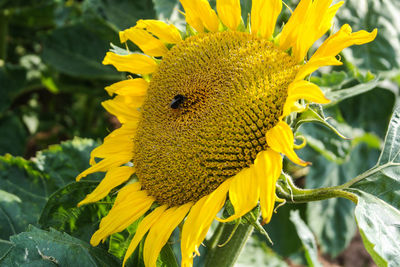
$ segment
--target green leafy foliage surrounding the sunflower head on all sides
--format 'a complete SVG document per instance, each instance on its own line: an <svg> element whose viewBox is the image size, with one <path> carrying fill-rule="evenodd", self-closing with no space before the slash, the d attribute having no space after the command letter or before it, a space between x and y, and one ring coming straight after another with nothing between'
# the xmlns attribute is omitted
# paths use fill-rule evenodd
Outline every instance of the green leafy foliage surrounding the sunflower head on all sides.
<svg viewBox="0 0 400 267"><path fill-rule="evenodd" d="M251 0L240 2L246 18ZM285 2L294 7L298 1ZM98 140L118 127L100 105L107 98L103 88L124 78L101 64L109 44L119 44L118 31L140 18L183 29L179 8L177 0L0 0L0 266L121 265L138 222L91 247L115 194L78 208L102 175L79 183L75 177L89 166ZM344 50L343 66L313 74L311 81L333 101L290 120L307 142L299 154L312 166L286 162L287 174L306 190L336 186L357 203L298 203L305 191L282 180L283 191L292 190L286 200L294 203L278 208L264 226L274 244L255 232L237 266L287 266L288 259L319 266L318 255L336 257L357 231L378 266L400 265L399 14L396 1L346 1L335 25L376 27L377 39ZM284 7L276 27L289 15ZM144 266L142 250L143 242L128 266ZM168 243L158 266L179 260L179 244Z"/></svg>

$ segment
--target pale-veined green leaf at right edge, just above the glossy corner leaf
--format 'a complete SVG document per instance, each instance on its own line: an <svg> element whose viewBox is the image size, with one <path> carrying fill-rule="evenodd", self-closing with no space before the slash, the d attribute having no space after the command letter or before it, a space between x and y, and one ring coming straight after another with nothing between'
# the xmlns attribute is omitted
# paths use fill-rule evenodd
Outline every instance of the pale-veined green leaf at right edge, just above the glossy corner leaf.
<svg viewBox="0 0 400 267"><path fill-rule="evenodd" d="M377 164L359 175L353 188L379 197L400 208L400 106L390 120L382 153Z"/></svg>

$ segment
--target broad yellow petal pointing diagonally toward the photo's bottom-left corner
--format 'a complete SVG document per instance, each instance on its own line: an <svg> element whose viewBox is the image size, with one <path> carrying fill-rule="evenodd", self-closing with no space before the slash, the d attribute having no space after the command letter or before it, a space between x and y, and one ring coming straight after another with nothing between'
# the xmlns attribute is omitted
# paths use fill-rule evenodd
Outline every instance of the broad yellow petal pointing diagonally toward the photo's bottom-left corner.
<svg viewBox="0 0 400 267"><path fill-rule="evenodd" d="M154 198L148 196L146 191L138 190L138 186L140 188L139 182L136 182L119 191L114 206L101 220L99 230L93 234L90 240L92 246L97 246L109 235L124 230L150 209Z"/></svg>

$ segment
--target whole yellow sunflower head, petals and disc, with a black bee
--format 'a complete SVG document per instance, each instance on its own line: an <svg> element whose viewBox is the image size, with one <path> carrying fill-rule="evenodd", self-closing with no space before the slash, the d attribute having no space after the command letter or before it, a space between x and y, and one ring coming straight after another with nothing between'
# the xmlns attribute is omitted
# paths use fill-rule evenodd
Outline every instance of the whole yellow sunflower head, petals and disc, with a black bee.
<svg viewBox="0 0 400 267"><path fill-rule="evenodd" d="M155 266L173 230L184 221L182 266L191 266L227 197L240 218L259 205L263 223L274 209L282 157L305 166L294 152L285 118L301 103L329 103L305 80L348 46L372 41L377 31L330 35L307 59L315 41L332 26L343 2L301 0L280 33L274 33L281 0L253 0L247 25L239 0L181 0L186 32L157 20L139 20L120 32L143 54L108 52L103 64L136 74L105 89L104 108L122 126L91 153L93 172L106 172L79 205L95 202L121 185L115 203L91 239L98 245L143 218L124 264L146 236L143 257ZM148 233L147 233L148 232Z"/></svg>

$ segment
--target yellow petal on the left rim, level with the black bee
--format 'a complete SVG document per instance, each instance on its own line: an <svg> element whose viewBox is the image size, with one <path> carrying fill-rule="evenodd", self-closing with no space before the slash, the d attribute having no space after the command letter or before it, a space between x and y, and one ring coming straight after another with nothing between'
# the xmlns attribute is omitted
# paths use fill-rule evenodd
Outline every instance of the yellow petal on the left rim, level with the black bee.
<svg viewBox="0 0 400 267"><path fill-rule="evenodd" d="M127 105L127 101L131 100L130 105ZM140 99L139 102L132 102L132 99L117 96L114 99L106 100L101 105L111 114L115 115L121 123L127 121L135 121L140 117L138 107L143 103L144 99Z"/></svg>

